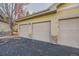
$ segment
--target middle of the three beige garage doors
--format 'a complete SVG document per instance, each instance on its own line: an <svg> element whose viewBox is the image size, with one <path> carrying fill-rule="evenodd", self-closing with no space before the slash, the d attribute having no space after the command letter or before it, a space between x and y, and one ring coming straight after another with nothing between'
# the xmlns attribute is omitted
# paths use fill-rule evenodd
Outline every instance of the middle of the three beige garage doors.
<svg viewBox="0 0 79 59"><path fill-rule="evenodd" d="M33 39L50 42L50 22L33 24Z"/></svg>

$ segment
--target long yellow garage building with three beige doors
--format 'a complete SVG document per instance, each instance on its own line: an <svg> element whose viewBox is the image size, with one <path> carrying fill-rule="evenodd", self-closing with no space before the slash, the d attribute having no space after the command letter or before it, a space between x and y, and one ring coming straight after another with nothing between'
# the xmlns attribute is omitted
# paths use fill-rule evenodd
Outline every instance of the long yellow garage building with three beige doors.
<svg viewBox="0 0 79 59"><path fill-rule="evenodd" d="M19 36L79 48L79 4L54 4L16 21Z"/></svg>

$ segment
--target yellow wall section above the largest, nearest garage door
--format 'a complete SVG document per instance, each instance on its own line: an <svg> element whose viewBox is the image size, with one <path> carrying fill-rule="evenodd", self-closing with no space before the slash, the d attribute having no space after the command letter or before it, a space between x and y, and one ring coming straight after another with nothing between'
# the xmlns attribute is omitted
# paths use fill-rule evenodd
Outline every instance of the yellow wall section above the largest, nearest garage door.
<svg viewBox="0 0 79 59"><path fill-rule="evenodd" d="M66 6L67 5L67 6ZM79 4L64 4L66 7L60 7L57 9L57 14L59 15L59 19L63 18L71 18L79 16Z"/></svg>

